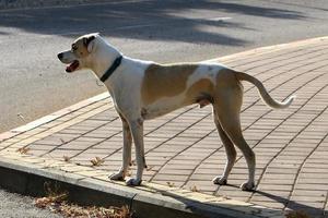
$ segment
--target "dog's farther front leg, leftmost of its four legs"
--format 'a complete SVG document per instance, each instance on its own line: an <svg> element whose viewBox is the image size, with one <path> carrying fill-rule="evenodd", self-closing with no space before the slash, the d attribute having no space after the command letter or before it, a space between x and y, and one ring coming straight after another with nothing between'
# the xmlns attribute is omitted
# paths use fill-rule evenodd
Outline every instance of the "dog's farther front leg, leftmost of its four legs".
<svg viewBox="0 0 328 218"><path fill-rule="evenodd" d="M131 162L132 136L127 120L122 116L120 116L120 119L122 122L122 135L124 135L122 166L117 173L109 175L109 179L122 181L127 175L129 165Z"/></svg>

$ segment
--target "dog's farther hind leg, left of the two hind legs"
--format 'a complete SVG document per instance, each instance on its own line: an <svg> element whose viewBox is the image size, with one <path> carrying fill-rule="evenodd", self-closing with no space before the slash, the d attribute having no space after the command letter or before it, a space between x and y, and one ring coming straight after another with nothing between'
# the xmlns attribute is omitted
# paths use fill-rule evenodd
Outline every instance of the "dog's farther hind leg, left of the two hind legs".
<svg viewBox="0 0 328 218"><path fill-rule="evenodd" d="M213 114L214 116L214 122L215 122L219 135L221 137L221 141L224 145L225 153L226 153L226 164L225 164L225 167L224 167L224 171L223 171L221 177L219 175L219 177L215 177L213 179L213 183L224 185L224 184L226 184L227 177L229 177L229 174L230 174L230 172L231 172L231 170L232 170L232 168L235 164L237 153L236 153L234 144L231 142L231 140L229 138L226 133L221 128L221 124L220 124L220 121L219 121L219 118L218 118L218 114L216 114L215 110L213 111L213 113L214 113Z"/></svg>

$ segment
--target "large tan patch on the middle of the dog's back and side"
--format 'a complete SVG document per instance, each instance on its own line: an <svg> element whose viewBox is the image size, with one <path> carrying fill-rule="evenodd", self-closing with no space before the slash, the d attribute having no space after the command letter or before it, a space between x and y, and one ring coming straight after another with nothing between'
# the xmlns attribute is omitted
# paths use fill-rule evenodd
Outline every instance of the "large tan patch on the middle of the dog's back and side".
<svg viewBox="0 0 328 218"><path fill-rule="evenodd" d="M141 96L145 105L159 98L176 96L187 88L187 81L198 64L151 64L144 72Z"/></svg>

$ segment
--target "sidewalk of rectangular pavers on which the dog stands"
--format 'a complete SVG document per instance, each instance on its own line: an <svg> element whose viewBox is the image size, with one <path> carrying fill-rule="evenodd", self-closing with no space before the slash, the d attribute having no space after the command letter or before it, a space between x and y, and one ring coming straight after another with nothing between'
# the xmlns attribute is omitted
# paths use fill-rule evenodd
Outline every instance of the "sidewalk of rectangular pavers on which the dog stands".
<svg viewBox="0 0 328 218"><path fill-rule="evenodd" d="M145 122L149 169L143 179L202 196L232 198L236 204L246 202L272 211L304 210L309 217L327 218L328 37L218 60L262 81L276 99L297 95L290 108L271 110L254 86L244 84L242 124L257 157L256 192L238 187L247 179L239 150L229 185L212 184L212 178L223 170L225 152L211 107L187 107ZM107 94L0 134L0 142L2 157L62 160L70 167L61 170L103 180L121 164L121 123ZM104 162L97 162L96 157ZM92 167L91 160L99 166ZM134 170L133 166L131 172Z"/></svg>

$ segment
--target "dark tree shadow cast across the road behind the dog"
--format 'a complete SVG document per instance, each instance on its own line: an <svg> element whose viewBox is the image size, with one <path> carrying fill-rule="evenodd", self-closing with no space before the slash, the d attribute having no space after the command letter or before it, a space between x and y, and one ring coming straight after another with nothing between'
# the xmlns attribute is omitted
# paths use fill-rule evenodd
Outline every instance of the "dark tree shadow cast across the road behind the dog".
<svg viewBox="0 0 328 218"><path fill-rule="evenodd" d="M199 19L199 10L202 19ZM192 12L192 17L184 14ZM194 13L195 11L195 13ZM229 13L282 20L305 19L301 12L241 3L199 1L108 2L97 5L75 5L55 9L1 11L0 26L15 27L30 33L77 36L101 32L110 37L141 40L174 40L229 46L247 44L243 38L224 34L226 29L256 31L226 17ZM208 14L208 19L203 19ZM219 28L211 31L209 27ZM175 34L172 34L174 32ZM0 32L0 35L7 34Z"/></svg>

